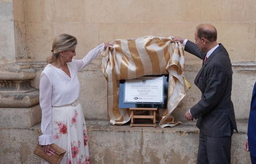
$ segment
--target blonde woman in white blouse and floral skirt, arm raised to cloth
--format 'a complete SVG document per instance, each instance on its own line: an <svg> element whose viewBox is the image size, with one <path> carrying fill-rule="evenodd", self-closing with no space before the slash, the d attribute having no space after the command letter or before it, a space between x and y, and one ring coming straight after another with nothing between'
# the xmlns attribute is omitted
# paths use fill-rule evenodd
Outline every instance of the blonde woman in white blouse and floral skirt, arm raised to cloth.
<svg viewBox="0 0 256 164"><path fill-rule="evenodd" d="M88 65L108 46L102 43L82 60L73 60L77 39L68 34L56 36L52 44L52 56L42 71L39 84L39 101L42 109L39 144L49 152L52 143L67 152L61 163L90 163L86 124L79 103L77 73ZM42 159L41 163L48 163Z"/></svg>

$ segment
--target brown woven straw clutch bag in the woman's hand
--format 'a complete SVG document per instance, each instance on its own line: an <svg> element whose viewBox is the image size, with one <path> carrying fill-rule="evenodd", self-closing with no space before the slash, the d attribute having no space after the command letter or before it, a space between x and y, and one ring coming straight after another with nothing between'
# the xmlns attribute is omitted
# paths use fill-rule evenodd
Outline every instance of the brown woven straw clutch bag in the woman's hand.
<svg viewBox="0 0 256 164"><path fill-rule="evenodd" d="M50 146L50 151L44 153L44 149L41 145L37 144L35 146L34 154L41 157L42 159L48 161L51 164L60 164L63 156L65 155L65 150L56 144Z"/></svg>

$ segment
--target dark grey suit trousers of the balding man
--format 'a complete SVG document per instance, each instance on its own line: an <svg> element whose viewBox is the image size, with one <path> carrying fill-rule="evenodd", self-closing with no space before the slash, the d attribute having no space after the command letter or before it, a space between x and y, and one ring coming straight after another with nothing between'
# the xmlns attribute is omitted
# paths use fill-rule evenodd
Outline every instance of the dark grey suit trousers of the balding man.
<svg viewBox="0 0 256 164"><path fill-rule="evenodd" d="M200 130L197 164L230 164L231 137L210 137Z"/></svg>

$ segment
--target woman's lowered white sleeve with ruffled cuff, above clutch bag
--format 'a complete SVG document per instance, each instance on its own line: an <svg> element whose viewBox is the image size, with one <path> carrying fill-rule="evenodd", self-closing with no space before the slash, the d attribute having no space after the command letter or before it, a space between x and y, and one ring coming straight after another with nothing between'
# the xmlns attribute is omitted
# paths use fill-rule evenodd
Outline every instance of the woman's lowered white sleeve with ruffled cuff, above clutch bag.
<svg viewBox="0 0 256 164"><path fill-rule="evenodd" d="M42 72L39 83L39 103L42 109L41 131L43 135L39 136L40 145L52 144L52 83L48 76Z"/></svg>

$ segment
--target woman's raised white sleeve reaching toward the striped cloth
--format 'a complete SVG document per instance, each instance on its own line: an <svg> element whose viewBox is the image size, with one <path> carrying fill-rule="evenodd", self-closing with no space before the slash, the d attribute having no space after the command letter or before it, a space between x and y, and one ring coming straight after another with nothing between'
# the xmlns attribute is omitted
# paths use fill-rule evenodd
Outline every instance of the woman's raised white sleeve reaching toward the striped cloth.
<svg viewBox="0 0 256 164"><path fill-rule="evenodd" d="M104 43L93 48L90 52L88 52L87 55L84 56L84 58L82 60L73 59L73 61L76 64L76 67L78 68L78 71L82 70L83 67L85 67L89 63L91 63L91 61L93 61L93 59L95 59L100 54L100 52L103 50L103 48L104 48Z"/></svg>

